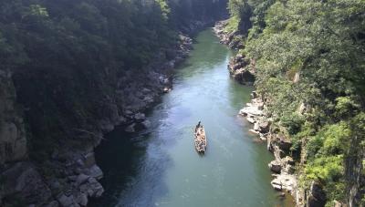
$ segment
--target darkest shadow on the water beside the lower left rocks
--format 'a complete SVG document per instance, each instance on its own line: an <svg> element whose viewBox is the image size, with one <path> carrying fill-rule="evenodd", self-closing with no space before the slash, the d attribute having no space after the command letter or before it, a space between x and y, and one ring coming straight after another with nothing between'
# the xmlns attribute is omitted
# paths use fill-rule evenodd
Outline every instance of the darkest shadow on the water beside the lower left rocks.
<svg viewBox="0 0 365 207"><path fill-rule="evenodd" d="M96 149L96 159L104 172L101 180L105 192L101 198L91 201L89 206L113 206L120 200L120 191L128 188L138 174L146 153L147 142L136 139L121 128L107 134Z"/></svg>

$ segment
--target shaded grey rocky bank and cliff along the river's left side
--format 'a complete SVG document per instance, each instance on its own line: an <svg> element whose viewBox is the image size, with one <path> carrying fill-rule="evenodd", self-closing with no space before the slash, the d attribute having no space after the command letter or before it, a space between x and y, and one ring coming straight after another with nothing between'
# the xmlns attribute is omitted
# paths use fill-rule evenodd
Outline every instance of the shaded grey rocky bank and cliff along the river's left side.
<svg viewBox="0 0 365 207"><path fill-rule="evenodd" d="M47 74L12 74L0 70L2 206L86 206L90 197L99 197L104 191L98 181L103 173L95 162L94 147L103 139L103 133L116 125L125 125L126 130L148 127L143 110L169 91L171 69L191 49L191 38L182 35L179 38L180 44L162 49L148 66L115 78L110 90L93 88L92 94L99 101L90 98L89 106L75 101L84 104L79 110L68 108L68 103L62 100L68 94L59 88L61 83L50 82L55 81L50 74L47 77ZM32 85L35 81L42 83ZM96 84L107 81L110 76ZM91 109L85 109L88 107ZM50 123L42 122L45 118L39 116L42 113L52 116L49 110L55 116L47 117ZM93 114L89 117L85 112ZM39 136L36 132L45 127L40 124L53 126L60 134L47 139ZM60 136L63 139L57 140Z"/></svg>

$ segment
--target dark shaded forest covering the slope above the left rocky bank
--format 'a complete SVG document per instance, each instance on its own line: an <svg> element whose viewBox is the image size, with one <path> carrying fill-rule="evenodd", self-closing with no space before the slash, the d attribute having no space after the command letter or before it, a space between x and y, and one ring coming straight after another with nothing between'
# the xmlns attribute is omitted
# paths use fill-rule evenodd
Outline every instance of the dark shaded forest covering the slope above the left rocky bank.
<svg viewBox="0 0 365 207"><path fill-rule="evenodd" d="M38 157L47 158L50 145L64 138L79 137L74 129L93 131L109 113L106 105L115 101L117 88L128 87L133 74L142 78L144 67L163 58L161 52L171 58L179 30L191 32L193 21L213 21L222 15L222 4L0 1L0 67L13 74L31 146L46 149Z"/></svg>

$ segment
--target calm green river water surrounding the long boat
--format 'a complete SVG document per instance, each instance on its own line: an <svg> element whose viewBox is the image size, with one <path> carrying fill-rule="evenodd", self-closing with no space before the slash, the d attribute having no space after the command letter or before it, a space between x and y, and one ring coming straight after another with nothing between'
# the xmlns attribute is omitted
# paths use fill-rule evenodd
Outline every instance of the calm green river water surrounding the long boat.
<svg viewBox="0 0 365 207"><path fill-rule="evenodd" d="M293 206L270 186L266 143L236 117L253 88L229 78L232 51L212 29L193 47L172 92L151 109L151 128L131 135L116 129L97 149L106 191L92 206ZM199 120L208 139L203 156L193 148Z"/></svg>

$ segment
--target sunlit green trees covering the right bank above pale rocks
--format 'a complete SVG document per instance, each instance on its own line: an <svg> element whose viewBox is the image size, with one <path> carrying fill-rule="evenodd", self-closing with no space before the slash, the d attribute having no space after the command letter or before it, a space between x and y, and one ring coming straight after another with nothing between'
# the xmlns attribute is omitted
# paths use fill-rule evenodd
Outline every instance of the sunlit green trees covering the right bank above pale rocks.
<svg viewBox="0 0 365 207"><path fill-rule="evenodd" d="M267 111L297 159L304 155L302 187L318 181L328 206L364 205L364 2L230 0L229 8Z"/></svg>

